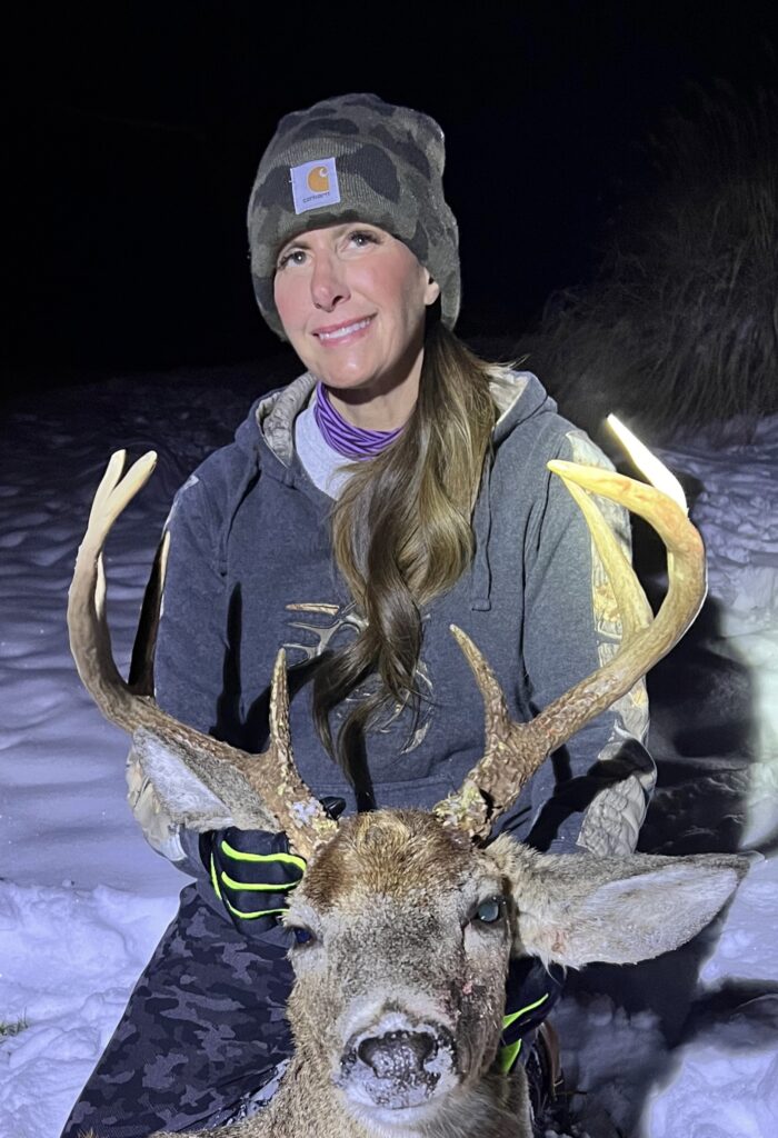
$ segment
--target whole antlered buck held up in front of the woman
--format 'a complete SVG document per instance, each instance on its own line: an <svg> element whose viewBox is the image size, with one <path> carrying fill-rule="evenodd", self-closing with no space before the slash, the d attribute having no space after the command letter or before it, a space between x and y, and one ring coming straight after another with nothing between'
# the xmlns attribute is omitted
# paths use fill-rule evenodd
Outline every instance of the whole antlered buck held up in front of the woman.
<svg viewBox="0 0 778 1138"><path fill-rule="evenodd" d="M155 457L144 455L122 478L124 453L114 455L97 492L68 605L78 671L106 717L132 733L146 773L181 822L200 831L231 822L284 830L307 859L284 922L293 933L295 1055L260 1114L207 1133L531 1138L523 1069L506 1077L496 1062L511 956L572 968L659 956L704 927L747 867L746 858L726 855L601 858L541 855L506 836L488 844L494 819L546 756L628 692L692 622L705 592L700 535L682 504L654 486L553 463L609 571L623 619L620 652L531 723L516 724L488 662L453 628L483 696L482 759L430 813L379 810L336 823L295 767L283 653L260 756L200 735L154 702L164 544L131 679L119 676L101 551ZM655 618L587 490L621 502L662 537L669 588Z"/></svg>

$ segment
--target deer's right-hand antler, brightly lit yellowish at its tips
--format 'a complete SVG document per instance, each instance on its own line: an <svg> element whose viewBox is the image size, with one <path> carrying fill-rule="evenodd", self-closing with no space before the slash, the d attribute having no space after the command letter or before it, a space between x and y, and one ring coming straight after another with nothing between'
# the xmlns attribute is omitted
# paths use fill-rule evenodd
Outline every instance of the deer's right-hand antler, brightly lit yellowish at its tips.
<svg viewBox="0 0 778 1138"><path fill-rule="evenodd" d="M612 418L612 417L611 417ZM614 426L614 429L616 427ZM662 463L618 424L618 432L636 463L653 483L676 489L669 494L597 467L549 462L580 506L603 561L622 616L622 645L606 665L554 700L530 723L511 720L499 684L473 642L460 628L452 632L462 648L483 696L483 757L455 794L439 802L434 815L446 826L486 839L494 820L515 802L524 783L545 758L584 724L609 708L661 660L689 627L705 596L705 552L700 534L686 516L678 483ZM637 442L637 440L636 440ZM594 501L590 490L621 503L657 531L668 550L669 587L652 618L648 602L631 566Z"/></svg>

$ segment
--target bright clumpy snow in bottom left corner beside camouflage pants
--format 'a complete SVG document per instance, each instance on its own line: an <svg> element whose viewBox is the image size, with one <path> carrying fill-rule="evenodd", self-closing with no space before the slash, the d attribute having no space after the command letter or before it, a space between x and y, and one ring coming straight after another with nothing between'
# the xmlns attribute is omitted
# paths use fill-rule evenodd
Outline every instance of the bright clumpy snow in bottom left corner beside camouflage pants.
<svg viewBox="0 0 778 1138"><path fill-rule="evenodd" d="M108 1042L174 897L0 885L0 1133L58 1135Z"/></svg>

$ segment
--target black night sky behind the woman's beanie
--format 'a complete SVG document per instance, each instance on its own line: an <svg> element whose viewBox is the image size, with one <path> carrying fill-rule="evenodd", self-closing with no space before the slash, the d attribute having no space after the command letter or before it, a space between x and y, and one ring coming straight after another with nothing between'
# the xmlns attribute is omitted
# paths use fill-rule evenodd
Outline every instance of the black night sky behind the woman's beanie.
<svg viewBox="0 0 778 1138"><path fill-rule="evenodd" d="M776 82L776 8L28 5L6 28L9 376L275 352L248 271L254 173L282 114L359 90L442 125L460 331L519 335L593 272L663 109L693 83Z"/></svg>

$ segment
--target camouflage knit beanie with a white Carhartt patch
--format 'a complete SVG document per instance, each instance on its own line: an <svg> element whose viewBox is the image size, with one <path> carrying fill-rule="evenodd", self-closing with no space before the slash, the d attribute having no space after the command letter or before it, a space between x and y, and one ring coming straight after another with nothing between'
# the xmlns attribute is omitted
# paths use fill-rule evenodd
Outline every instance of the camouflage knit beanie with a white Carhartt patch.
<svg viewBox="0 0 778 1138"><path fill-rule="evenodd" d="M441 316L460 311L458 236L442 192L442 131L375 94L324 99L284 115L265 150L248 209L254 291L279 336L278 254L297 233L363 221L399 238L440 286Z"/></svg>

